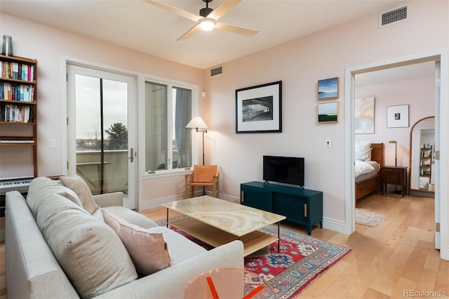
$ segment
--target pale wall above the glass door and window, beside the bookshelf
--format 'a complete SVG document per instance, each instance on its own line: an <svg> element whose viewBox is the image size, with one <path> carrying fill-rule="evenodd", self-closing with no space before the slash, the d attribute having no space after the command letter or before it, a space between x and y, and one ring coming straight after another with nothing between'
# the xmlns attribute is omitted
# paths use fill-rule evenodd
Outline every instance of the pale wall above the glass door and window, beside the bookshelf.
<svg viewBox="0 0 449 299"><path fill-rule="evenodd" d="M185 81L202 88L201 69L0 13L0 36L3 34L13 37L14 55L37 60L39 176L62 175L65 166L62 162L62 134L65 131L62 57ZM138 98L142 101L143 95ZM55 149L48 147L50 139L56 140Z"/></svg>

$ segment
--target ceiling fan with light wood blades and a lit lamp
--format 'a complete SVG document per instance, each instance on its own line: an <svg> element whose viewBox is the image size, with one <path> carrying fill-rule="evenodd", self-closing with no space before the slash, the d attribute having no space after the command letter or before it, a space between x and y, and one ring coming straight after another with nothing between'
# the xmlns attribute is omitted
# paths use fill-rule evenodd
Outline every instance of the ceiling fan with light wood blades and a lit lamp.
<svg viewBox="0 0 449 299"><path fill-rule="evenodd" d="M196 22L196 25L189 29L185 34L180 36L177 41L184 41L194 34L200 32L201 30L212 30L213 28L222 29L228 32L241 34L243 36L253 37L257 34L256 30L247 29L243 27L238 27L234 25L225 24L222 22L217 22L223 15L225 15L228 11L230 11L234 6L239 4L242 0L223 0L221 4L219 4L215 9L209 8L209 3L213 0L203 0L206 2L206 7L201 8L199 11L199 15L195 15L194 13L190 13L188 11L183 11L180 8L175 8L173 6L168 6L166 4L161 4L161 2L154 0L143 0L148 4L152 4L159 8L163 8L166 11L170 11L171 13L175 13L180 15L182 18L186 18Z"/></svg>

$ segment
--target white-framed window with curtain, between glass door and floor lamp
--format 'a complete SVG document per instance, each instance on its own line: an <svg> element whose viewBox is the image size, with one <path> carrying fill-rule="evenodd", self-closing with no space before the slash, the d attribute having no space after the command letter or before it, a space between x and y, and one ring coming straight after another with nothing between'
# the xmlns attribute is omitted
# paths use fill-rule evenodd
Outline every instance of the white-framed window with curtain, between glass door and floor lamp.
<svg viewBox="0 0 449 299"><path fill-rule="evenodd" d="M192 166L192 88L145 82L145 171Z"/></svg>

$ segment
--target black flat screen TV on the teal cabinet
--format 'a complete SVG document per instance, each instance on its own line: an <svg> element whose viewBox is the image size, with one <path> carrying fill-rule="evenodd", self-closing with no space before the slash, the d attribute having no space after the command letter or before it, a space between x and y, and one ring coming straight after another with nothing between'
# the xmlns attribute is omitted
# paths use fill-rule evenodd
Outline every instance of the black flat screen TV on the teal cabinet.
<svg viewBox="0 0 449 299"><path fill-rule="evenodd" d="M298 157L263 157L263 180L284 184L304 186L304 158Z"/></svg>

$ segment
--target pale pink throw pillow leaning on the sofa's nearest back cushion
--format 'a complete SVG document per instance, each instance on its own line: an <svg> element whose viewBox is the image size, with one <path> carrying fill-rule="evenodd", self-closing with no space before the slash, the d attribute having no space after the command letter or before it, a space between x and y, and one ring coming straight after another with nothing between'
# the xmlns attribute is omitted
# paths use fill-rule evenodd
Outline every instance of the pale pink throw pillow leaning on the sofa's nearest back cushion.
<svg viewBox="0 0 449 299"><path fill-rule="evenodd" d="M163 234L147 232L102 209L103 219L119 235L140 274L148 275L173 264Z"/></svg>

